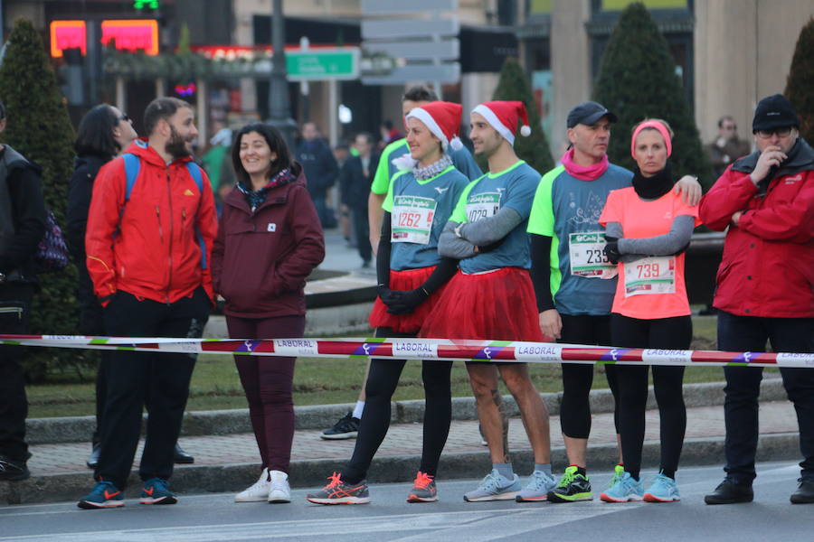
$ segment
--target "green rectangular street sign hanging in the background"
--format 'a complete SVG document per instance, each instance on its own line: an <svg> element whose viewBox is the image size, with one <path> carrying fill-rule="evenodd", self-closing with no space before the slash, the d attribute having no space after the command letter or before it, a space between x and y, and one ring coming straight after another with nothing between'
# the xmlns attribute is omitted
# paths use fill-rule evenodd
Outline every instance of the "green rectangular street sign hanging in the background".
<svg viewBox="0 0 814 542"><path fill-rule="evenodd" d="M357 79L359 48L336 47L286 51L286 70L291 81Z"/></svg>

